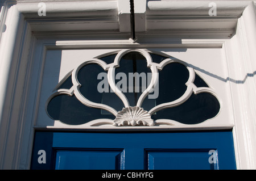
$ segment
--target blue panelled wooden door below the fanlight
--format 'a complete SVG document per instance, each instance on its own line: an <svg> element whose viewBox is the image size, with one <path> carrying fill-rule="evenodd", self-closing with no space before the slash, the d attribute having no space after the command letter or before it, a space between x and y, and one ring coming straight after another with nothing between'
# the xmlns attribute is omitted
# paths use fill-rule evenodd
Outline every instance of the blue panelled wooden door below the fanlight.
<svg viewBox="0 0 256 181"><path fill-rule="evenodd" d="M34 140L31 169L236 169L232 131L36 132Z"/></svg>

